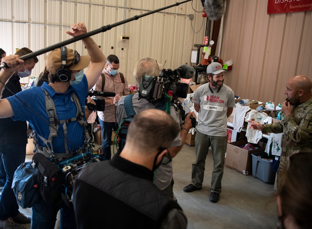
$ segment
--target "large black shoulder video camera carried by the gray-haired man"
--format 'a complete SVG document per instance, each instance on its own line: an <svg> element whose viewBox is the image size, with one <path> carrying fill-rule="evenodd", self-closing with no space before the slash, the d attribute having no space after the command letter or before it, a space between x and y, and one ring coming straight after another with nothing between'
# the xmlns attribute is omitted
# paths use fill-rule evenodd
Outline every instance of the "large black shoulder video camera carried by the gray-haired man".
<svg viewBox="0 0 312 229"><path fill-rule="evenodd" d="M171 103L176 103L177 98L186 98L188 84L179 83L180 78L191 79L194 76L194 68L183 64L179 68L161 69L159 76L142 76L139 88L139 98L144 98L150 103L157 103L165 98L165 94L172 97Z"/></svg>

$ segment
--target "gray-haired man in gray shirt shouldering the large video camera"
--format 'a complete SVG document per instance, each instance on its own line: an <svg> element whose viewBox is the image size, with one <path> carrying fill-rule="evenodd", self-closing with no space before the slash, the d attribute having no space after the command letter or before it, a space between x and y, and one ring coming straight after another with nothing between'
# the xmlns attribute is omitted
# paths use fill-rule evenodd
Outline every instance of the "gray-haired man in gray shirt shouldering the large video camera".
<svg viewBox="0 0 312 229"><path fill-rule="evenodd" d="M142 80L142 76L150 75L150 76L158 76L160 73L159 65L157 64L156 60L148 57L142 60L139 60L134 68L134 82L136 83L137 87L139 88L140 82ZM126 117L126 111L124 108L124 98L120 98L118 102L118 107L116 110L117 122L120 125L123 118ZM154 108L155 105L149 103L146 99L139 99L139 93L135 93L132 97L132 104L135 113L139 113L140 111ZM175 138L171 147L168 149L170 152L170 156L173 158L177 153L181 150L182 146L184 145L186 135L188 131L192 128L192 122L189 116L194 112L189 112L187 117L185 118L184 127L182 128L180 135ZM177 123L180 123L180 118L178 113L175 111L174 107L170 107L170 115L174 118ZM143 141L143 139L142 139ZM154 184L160 189L163 190L164 193L169 195L170 197L174 198L173 195L173 168L172 163L168 163L166 165L160 165L154 179Z"/></svg>

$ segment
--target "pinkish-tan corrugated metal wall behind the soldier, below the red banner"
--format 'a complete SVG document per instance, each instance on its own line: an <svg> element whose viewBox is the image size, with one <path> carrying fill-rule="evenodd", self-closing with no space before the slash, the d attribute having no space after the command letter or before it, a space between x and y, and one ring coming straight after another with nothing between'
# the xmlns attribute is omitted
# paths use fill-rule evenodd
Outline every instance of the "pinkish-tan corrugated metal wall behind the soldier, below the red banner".
<svg viewBox="0 0 312 229"><path fill-rule="evenodd" d="M221 58L225 83L241 98L285 101L285 83L312 79L312 11L267 14L267 0L227 0Z"/></svg>

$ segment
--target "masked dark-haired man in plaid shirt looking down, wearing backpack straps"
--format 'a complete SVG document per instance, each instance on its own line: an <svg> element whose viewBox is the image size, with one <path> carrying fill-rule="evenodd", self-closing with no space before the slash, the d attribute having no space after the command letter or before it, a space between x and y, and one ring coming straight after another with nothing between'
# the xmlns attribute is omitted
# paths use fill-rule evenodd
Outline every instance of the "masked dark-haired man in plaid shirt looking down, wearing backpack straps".
<svg viewBox="0 0 312 229"><path fill-rule="evenodd" d="M109 55L106 59L106 68L95 84L95 90L101 92L114 92L115 97L105 97L105 111L98 111L100 126L102 128L102 148L105 159L111 159L110 146L112 145L112 130L117 131L115 105L120 96L129 95L128 81L119 73L119 59L116 55Z"/></svg>

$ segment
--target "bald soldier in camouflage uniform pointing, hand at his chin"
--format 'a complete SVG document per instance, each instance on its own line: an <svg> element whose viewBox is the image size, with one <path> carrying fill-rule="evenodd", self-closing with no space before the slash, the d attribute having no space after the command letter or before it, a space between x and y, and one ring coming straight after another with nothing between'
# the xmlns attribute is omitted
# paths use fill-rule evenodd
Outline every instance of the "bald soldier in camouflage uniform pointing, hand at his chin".
<svg viewBox="0 0 312 229"><path fill-rule="evenodd" d="M281 171L287 165L287 158L299 150L312 152L312 82L305 75L294 76L286 83L284 94L287 95L283 103L281 122L261 125L248 121L252 129L263 133L283 133L280 167L277 172L277 188Z"/></svg>

